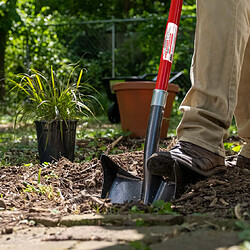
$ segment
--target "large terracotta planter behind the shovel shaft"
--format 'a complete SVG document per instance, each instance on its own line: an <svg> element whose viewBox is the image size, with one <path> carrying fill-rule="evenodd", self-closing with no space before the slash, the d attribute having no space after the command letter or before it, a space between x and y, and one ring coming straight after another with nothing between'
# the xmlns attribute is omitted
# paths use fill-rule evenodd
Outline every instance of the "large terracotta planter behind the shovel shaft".
<svg viewBox="0 0 250 250"><path fill-rule="evenodd" d="M118 100L122 130L130 131L132 138L146 136L154 88L155 82L151 81L120 82L112 86ZM173 101L178 92L179 87L177 85L169 84L161 138L167 137Z"/></svg>

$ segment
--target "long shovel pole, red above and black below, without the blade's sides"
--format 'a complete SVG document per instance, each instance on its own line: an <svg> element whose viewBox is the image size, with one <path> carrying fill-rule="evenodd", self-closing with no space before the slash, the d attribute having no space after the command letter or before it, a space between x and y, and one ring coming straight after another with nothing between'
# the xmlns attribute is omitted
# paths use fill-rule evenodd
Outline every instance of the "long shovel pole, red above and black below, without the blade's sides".
<svg viewBox="0 0 250 250"><path fill-rule="evenodd" d="M157 76L156 87L153 92L151 102L144 149L144 179L142 199L145 204L152 203L157 191L159 191L158 189L163 186L161 185L163 182L163 178L161 176L155 176L149 173L147 169L147 160L153 153L155 153L159 149L160 130L166 105L167 87L174 56L182 4L183 0L171 1L161 54L160 67Z"/></svg>

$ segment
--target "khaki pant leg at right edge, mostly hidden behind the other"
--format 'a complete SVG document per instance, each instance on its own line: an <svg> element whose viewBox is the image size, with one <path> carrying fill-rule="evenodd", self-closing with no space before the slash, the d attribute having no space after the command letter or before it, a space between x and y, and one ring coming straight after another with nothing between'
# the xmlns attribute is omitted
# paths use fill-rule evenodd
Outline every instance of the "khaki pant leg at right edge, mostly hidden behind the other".
<svg viewBox="0 0 250 250"><path fill-rule="evenodd" d="M250 158L250 39L242 67L235 118L238 134L247 143L240 154Z"/></svg>

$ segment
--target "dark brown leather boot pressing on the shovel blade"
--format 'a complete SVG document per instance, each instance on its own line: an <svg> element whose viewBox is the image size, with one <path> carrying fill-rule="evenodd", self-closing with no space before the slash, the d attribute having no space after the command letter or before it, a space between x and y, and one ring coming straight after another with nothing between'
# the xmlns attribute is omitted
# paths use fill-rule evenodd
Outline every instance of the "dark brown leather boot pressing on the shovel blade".
<svg viewBox="0 0 250 250"><path fill-rule="evenodd" d="M226 170L224 157L184 141L179 141L169 152L153 154L147 161L148 170L153 175L170 176L175 160L183 170L205 177Z"/></svg>

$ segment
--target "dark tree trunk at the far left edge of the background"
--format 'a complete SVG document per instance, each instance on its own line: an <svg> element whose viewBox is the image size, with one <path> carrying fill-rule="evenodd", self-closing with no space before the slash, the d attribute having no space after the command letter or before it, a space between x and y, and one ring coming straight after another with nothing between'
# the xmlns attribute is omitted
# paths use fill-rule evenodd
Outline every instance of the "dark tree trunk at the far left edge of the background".
<svg viewBox="0 0 250 250"><path fill-rule="evenodd" d="M6 48L6 37L6 31L0 29L0 101L3 101L5 95L4 57Z"/></svg>

